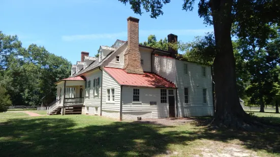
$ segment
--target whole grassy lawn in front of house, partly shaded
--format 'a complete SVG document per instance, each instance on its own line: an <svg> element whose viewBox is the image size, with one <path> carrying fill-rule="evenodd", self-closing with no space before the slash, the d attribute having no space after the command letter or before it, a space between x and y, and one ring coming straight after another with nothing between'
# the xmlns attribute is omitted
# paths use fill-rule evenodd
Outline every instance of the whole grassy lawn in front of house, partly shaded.
<svg viewBox="0 0 280 157"><path fill-rule="evenodd" d="M0 156L280 156L280 134L212 131L199 119L177 126L100 116L0 119Z"/></svg>

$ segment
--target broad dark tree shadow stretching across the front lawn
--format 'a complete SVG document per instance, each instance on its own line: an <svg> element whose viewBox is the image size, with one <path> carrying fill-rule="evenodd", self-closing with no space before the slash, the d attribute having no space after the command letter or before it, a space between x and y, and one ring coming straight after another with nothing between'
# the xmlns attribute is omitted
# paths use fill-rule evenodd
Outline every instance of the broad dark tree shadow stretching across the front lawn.
<svg viewBox="0 0 280 157"><path fill-rule="evenodd" d="M280 151L280 135L269 129L247 133L211 131L195 126L197 123L193 131L176 128L183 125L112 122L82 127L78 123L83 121L44 117L8 120L0 124L0 156L153 156L169 153L169 144L185 146L197 139L239 139L250 149Z"/></svg>

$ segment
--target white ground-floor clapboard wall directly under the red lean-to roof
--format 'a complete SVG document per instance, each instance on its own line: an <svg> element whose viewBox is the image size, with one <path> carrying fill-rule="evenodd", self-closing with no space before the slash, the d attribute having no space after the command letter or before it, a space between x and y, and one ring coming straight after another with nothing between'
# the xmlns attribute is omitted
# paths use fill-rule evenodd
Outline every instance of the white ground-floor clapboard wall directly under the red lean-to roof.
<svg viewBox="0 0 280 157"><path fill-rule="evenodd" d="M133 89L140 90L140 101L133 102ZM174 94L176 93L175 89ZM150 106L150 101L157 101L157 106ZM176 97L175 97L176 104ZM175 111L176 112L176 111ZM165 118L169 117L168 89L167 103L161 103L160 88L122 87L122 119L137 120L137 117Z"/></svg>

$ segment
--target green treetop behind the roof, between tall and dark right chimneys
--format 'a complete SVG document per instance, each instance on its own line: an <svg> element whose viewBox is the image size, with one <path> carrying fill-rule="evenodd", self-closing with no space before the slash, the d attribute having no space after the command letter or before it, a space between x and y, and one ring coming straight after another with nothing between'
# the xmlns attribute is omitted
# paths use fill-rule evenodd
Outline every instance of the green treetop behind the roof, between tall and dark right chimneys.
<svg viewBox="0 0 280 157"><path fill-rule="evenodd" d="M155 37L155 35L149 35L147 42L145 41L139 44L154 49L161 49L161 50L168 51L168 42L166 37L164 38L164 40L161 39L160 41L157 41L157 37Z"/></svg>

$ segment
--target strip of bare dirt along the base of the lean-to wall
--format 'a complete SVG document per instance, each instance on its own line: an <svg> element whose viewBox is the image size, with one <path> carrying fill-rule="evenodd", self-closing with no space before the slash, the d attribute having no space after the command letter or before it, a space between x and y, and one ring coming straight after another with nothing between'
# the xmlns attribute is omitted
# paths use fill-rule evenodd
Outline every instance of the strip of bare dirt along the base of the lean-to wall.
<svg viewBox="0 0 280 157"><path fill-rule="evenodd" d="M143 119L141 121L135 121L134 123L176 126L176 125L183 125L185 123L190 123L190 122L194 122L194 120L186 117L178 117L178 118L176 117L176 118L167 118L167 119Z"/></svg>

